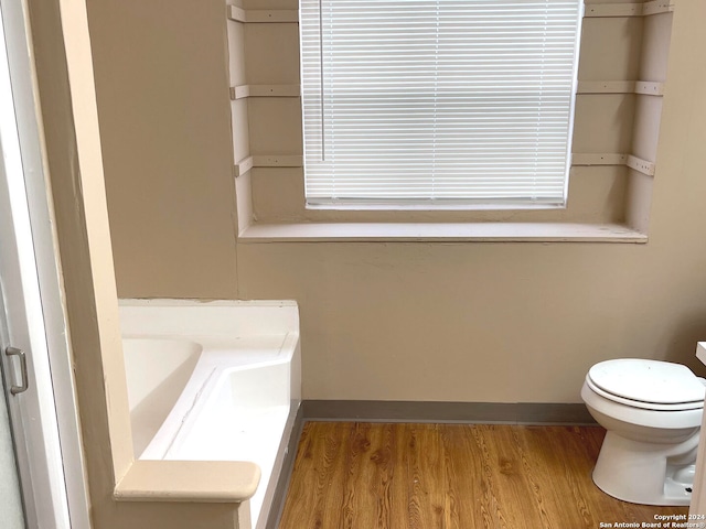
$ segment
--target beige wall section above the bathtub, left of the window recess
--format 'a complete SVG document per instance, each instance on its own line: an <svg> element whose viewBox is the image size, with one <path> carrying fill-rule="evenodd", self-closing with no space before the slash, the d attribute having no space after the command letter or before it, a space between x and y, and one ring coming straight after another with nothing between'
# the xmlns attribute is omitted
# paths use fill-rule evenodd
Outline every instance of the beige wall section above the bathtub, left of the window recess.
<svg viewBox="0 0 706 529"><path fill-rule="evenodd" d="M121 293L234 298L224 1L86 3Z"/></svg>

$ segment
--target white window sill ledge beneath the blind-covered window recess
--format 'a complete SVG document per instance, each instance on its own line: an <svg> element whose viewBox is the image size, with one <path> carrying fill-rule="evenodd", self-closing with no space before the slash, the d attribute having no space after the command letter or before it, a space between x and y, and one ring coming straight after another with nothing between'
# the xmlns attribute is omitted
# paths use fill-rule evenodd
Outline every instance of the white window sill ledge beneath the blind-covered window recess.
<svg viewBox="0 0 706 529"><path fill-rule="evenodd" d="M567 223L302 223L254 224L239 235L257 242L630 242L648 236L619 224Z"/></svg>

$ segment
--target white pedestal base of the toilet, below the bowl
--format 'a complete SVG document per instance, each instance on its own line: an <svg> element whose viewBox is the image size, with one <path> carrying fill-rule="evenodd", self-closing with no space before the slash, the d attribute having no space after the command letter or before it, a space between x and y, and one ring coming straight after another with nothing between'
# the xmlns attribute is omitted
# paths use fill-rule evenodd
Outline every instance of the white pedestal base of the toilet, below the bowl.
<svg viewBox="0 0 706 529"><path fill-rule="evenodd" d="M653 444L606 433L593 483L606 494L633 504L689 505L698 431L677 445Z"/></svg>

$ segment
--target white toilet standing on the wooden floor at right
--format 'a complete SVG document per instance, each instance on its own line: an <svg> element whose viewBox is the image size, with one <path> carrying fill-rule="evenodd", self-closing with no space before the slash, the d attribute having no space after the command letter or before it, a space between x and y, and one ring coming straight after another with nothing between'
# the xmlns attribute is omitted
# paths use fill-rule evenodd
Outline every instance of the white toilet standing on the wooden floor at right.
<svg viewBox="0 0 706 529"><path fill-rule="evenodd" d="M633 504L688 505L705 382L668 361L621 358L591 367L581 398L607 430L593 483Z"/></svg>

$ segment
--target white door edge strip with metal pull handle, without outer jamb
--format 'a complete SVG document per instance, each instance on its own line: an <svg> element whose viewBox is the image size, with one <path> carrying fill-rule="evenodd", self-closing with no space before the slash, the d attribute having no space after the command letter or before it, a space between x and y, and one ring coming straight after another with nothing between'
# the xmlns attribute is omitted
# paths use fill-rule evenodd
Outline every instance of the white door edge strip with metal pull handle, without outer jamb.
<svg viewBox="0 0 706 529"><path fill-rule="evenodd" d="M15 388L6 395L28 527L68 528L60 446L53 442L58 439L56 409L3 30L0 24L0 320L4 327L0 328L0 356L4 388ZM10 356L10 352L18 354ZM50 380L49 387L38 379Z"/></svg>

